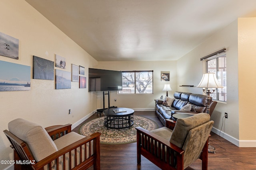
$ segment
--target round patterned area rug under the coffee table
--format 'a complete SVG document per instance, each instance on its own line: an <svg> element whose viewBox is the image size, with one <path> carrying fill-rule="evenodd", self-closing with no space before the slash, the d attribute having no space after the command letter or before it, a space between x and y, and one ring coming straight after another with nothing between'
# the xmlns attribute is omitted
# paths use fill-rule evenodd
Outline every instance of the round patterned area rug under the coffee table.
<svg viewBox="0 0 256 170"><path fill-rule="evenodd" d="M151 119L141 116L134 116L134 125L132 125L130 129L107 129L104 126L104 117L100 117L82 125L80 128L80 134L88 136L92 133L100 132L100 143L102 144L116 145L132 143L136 142L135 127L138 126L143 127L149 131L158 128L156 122L152 121Z"/></svg>

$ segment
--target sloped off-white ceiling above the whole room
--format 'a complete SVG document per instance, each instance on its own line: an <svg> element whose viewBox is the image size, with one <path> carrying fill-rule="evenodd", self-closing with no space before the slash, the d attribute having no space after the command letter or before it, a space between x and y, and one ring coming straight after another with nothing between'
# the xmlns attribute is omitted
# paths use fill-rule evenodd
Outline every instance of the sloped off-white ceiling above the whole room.
<svg viewBox="0 0 256 170"><path fill-rule="evenodd" d="M256 17L256 0L26 1L97 61L177 60L237 18Z"/></svg>

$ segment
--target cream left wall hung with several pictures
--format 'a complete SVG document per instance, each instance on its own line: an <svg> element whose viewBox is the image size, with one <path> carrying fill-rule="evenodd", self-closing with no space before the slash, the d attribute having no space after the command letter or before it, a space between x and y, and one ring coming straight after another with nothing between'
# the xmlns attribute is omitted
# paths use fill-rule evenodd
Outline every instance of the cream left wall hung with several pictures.
<svg viewBox="0 0 256 170"><path fill-rule="evenodd" d="M86 77L88 67L97 61L24 0L0 4L0 32L19 39L19 59L0 56L0 60L31 66L30 91L0 92L0 160L13 160L10 142L2 132L12 119L21 117L43 127L74 124L96 109L95 95L88 88L79 89L78 82L72 82L71 89L55 90L54 80L32 79L32 56L55 61L58 54L66 58L65 71L71 71L71 64L81 65ZM0 164L0 169L7 166Z"/></svg>

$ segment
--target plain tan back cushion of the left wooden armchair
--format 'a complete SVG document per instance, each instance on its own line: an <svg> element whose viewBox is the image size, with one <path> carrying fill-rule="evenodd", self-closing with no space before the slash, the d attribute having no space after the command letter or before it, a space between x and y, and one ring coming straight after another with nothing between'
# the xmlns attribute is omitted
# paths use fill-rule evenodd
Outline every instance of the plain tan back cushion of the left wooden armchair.
<svg viewBox="0 0 256 170"><path fill-rule="evenodd" d="M58 151L46 130L36 123L14 119L8 123L8 129L28 145L37 162Z"/></svg>

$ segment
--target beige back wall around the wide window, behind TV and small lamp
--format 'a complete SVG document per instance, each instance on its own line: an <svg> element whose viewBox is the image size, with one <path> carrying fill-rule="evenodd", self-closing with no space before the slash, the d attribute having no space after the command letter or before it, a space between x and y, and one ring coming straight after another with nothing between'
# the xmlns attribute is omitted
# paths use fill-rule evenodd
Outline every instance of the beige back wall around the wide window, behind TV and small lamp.
<svg viewBox="0 0 256 170"><path fill-rule="evenodd" d="M110 106L130 107L136 110L154 110L154 99L159 99L160 96L165 96L163 92L164 84L170 84L172 92L168 92L168 96L173 96L176 91L176 61L125 61L125 62L98 62L94 68L106 70L153 70L153 86L154 94L117 94L117 92L110 92ZM170 82L161 81L161 71L170 72ZM97 107L102 108L102 92L97 93ZM114 99L117 99L114 102ZM108 106L106 103L105 106Z"/></svg>

